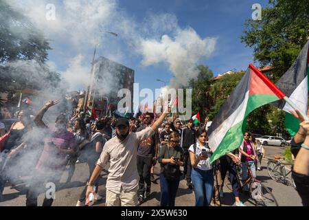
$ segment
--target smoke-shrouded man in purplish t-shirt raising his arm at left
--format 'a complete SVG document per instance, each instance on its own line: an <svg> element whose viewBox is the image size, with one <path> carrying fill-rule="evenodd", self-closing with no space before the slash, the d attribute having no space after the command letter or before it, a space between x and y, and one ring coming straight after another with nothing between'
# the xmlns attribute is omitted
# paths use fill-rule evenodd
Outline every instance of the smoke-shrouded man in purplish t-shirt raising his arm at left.
<svg viewBox="0 0 309 220"><path fill-rule="evenodd" d="M34 122L37 126L46 128L43 122L43 115L49 109L60 102L60 100L49 100L44 107L38 111L34 117ZM43 153L36 165L34 176L30 181L30 186L26 195L26 206L37 206L38 195L47 190L46 186L56 190L63 171L67 165L67 154L75 151L76 141L73 133L67 131L67 116L64 114L58 115L55 121L55 131L47 132ZM49 185L47 185L47 183ZM52 191L51 191L52 192ZM54 193L45 193L43 206L52 206L54 201Z"/></svg>

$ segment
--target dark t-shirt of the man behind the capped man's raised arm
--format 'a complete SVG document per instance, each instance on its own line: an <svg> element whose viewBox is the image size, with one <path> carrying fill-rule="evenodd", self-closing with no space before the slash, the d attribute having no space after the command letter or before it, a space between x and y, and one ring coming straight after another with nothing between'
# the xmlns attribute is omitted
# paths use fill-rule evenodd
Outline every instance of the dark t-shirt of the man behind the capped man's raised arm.
<svg viewBox="0 0 309 220"><path fill-rule="evenodd" d="M140 126L136 132L139 132L141 130L146 129L146 124L143 126ZM156 139L158 139L159 134L156 131L156 133L150 137L148 137L146 140L141 142L137 148L137 155L141 157L154 157L155 156L155 147L156 147Z"/></svg>

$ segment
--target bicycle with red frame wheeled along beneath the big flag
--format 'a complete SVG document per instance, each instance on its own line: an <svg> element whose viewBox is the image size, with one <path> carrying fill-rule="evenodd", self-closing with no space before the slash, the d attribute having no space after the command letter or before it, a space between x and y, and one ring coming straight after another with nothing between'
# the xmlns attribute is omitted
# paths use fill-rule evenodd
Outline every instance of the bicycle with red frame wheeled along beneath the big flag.
<svg viewBox="0 0 309 220"><path fill-rule="evenodd" d="M246 164L247 163L240 163L240 164ZM232 189L231 184L227 184L227 181L229 181L229 177L225 180L225 186L228 186L227 188ZM242 184L242 181L240 181L239 173L236 175L236 179L238 181L238 188L240 192L244 192L244 186L249 184L249 197L253 199L255 206L278 206L277 200L275 199L275 196L269 190L268 187L266 187L262 182L258 179L255 179L253 177L251 169L248 168L247 173L247 179L244 181L244 184Z"/></svg>

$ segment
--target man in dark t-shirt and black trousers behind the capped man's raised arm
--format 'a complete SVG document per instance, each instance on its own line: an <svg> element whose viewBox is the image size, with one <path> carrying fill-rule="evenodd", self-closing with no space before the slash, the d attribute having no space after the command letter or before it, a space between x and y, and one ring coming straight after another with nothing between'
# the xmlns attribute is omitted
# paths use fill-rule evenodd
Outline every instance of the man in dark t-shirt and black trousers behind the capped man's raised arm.
<svg viewBox="0 0 309 220"><path fill-rule="evenodd" d="M144 125L137 129L137 132L143 131L144 129L151 126L152 120L154 118L153 113L146 112L144 118ZM146 197L150 195L151 187L151 166L154 164L157 148L156 144L158 142L159 135L156 131L154 135L148 137L144 142L139 143L137 148L137 172L139 173L139 203L142 203ZM146 183L146 190L145 185ZM145 195L146 191L146 195Z"/></svg>

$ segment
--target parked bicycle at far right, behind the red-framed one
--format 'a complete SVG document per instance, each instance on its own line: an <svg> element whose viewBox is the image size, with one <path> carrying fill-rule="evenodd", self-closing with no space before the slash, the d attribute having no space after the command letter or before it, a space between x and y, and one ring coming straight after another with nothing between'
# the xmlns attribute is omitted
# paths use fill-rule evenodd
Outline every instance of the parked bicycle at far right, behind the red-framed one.
<svg viewBox="0 0 309 220"><path fill-rule="evenodd" d="M284 160L285 157L279 155L276 155L275 159L269 159L267 163L268 175L269 177L271 177L271 179L277 182L281 182L286 186L294 186L294 188L296 188L292 176L288 177L288 175L292 173L292 168L290 169L290 171L286 172L286 165L293 166L293 164L290 163L283 164L282 162Z"/></svg>

